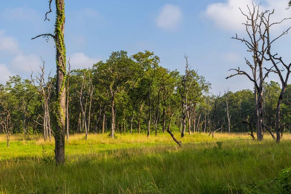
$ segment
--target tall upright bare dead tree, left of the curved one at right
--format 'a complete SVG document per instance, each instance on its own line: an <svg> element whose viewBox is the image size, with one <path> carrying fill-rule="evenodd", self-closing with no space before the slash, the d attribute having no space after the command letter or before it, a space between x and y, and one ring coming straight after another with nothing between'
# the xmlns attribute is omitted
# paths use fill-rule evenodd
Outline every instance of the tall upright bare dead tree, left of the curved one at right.
<svg viewBox="0 0 291 194"><path fill-rule="evenodd" d="M246 17L246 22L243 23L245 30L248 34L247 38L240 38L237 34L232 39L239 40L247 47L247 50L252 53L252 60L250 62L245 58L245 63L248 65L251 73L247 73L237 69L229 69L229 71L235 71L235 74L231 74L226 79L232 78L237 75L244 75L254 84L254 95L256 101L256 124L257 124L257 137L258 140L263 140L263 83L268 77L269 73L274 71L274 66L267 68L264 66L264 60L267 55L267 40L265 36L267 32L264 32L264 24L261 21L262 13L259 11L259 5L253 4L252 9L247 5L248 13L244 14L240 9L243 16ZM272 134L272 131L269 131Z"/></svg>

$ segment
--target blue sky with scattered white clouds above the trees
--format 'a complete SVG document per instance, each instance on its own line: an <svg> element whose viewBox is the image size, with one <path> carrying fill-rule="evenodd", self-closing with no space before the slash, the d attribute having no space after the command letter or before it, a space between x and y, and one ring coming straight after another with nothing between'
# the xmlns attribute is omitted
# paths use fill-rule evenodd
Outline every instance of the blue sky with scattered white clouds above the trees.
<svg viewBox="0 0 291 194"><path fill-rule="evenodd" d="M53 33L54 13L48 15L49 0L9 0L0 6L0 83L9 76L30 79L45 61L46 71L55 72L55 48L52 39L31 40L43 33ZM255 0L260 10L273 10L271 21L291 17L288 0ZM244 58L251 53L237 33L247 37L242 25L252 0L65 0L65 46L71 68L87 68L106 61L113 51L126 50L129 55L153 51L163 67L184 72L184 55L192 69L211 83L218 94L252 89L244 76L226 80L230 68L248 71ZM52 10L55 11L54 3ZM291 26L291 20L272 29L274 37ZM291 63L291 34L283 36L274 50ZM42 59L42 60L41 60ZM279 81L271 75L268 81Z"/></svg>

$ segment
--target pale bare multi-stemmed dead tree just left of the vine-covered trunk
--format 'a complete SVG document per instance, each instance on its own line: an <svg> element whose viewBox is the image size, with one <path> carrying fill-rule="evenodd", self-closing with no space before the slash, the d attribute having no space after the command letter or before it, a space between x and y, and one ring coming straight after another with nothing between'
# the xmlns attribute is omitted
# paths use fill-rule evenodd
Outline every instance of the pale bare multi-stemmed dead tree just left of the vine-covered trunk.
<svg viewBox="0 0 291 194"><path fill-rule="evenodd" d="M50 78L50 72L48 76L48 81L45 81L45 63L46 62L43 60L42 62L43 62L43 65L40 66L41 72L40 73L38 72L39 76L35 76L35 80L34 80L32 78L32 74L33 74L32 72L31 80L34 85L34 88L38 91L39 96L42 98L41 102L42 102L42 108L43 108L44 113L43 113L43 116L41 116L41 118L43 119L43 123L41 124L41 126L43 126L44 140L46 141L49 136L49 141L51 141L52 130L50 129L49 101L50 101L52 81ZM37 120L35 121L36 123L38 123Z"/></svg>

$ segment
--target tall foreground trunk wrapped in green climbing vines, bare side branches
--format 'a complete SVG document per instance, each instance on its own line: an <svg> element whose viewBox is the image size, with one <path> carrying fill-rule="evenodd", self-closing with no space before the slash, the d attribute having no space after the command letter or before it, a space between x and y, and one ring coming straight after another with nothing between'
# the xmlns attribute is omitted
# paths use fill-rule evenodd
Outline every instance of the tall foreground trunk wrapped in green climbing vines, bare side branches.
<svg viewBox="0 0 291 194"><path fill-rule="evenodd" d="M51 10L49 0L49 11L46 13L45 21ZM57 66L57 100L56 100L56 130L55 130L55 159L56 165L65 163L65 80L66 80L66 51L65 51L65 0L55 0L56 20L54 33L44 33L35 36L53 38L56 48L56 66Z"/></svg>

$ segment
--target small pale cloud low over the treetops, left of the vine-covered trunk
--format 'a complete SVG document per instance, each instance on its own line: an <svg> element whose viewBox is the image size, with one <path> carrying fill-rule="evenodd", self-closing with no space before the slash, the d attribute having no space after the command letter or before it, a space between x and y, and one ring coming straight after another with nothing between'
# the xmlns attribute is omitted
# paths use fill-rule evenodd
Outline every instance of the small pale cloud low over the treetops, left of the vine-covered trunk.
<svg viewBox="0 0 291 194"><path fill-rule="evenodd" d="M38 71L39 65L42 65L42 62L36 54L20 54L10 62L10 65L16 72L27 73L31 72L31 70L33 72Z"/></svg>

